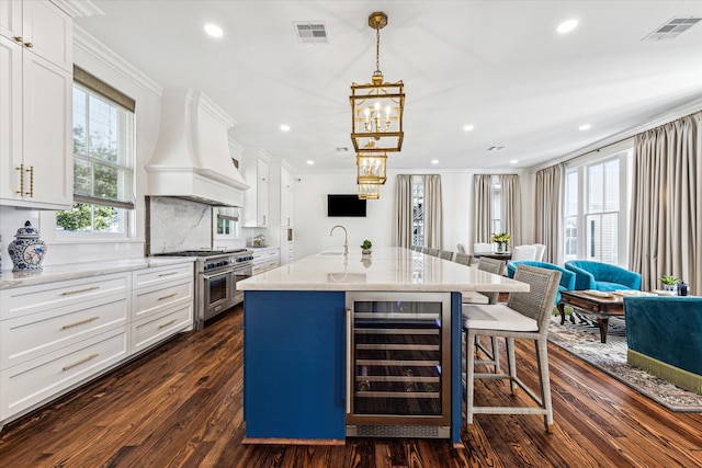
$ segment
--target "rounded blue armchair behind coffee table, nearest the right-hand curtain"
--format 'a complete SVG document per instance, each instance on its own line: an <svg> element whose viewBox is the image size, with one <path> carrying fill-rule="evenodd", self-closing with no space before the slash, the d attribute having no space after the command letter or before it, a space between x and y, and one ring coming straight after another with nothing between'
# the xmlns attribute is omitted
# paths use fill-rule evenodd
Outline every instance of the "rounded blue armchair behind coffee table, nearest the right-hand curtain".
<svg viewBox="0 0 702 468"><path fill-rule="evenodd" d="M576 289L641 289L641 275L621 266L589 260L570 260L565 266L575 273Z"/></svg>

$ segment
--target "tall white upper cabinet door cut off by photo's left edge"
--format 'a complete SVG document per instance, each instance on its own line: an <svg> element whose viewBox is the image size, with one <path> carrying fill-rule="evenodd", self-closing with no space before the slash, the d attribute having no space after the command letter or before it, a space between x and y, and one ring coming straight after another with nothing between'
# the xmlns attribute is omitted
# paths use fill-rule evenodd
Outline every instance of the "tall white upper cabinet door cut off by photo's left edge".
<svg viewBox="0 0 702 468"><path fill-rule="evenodd" d="M0 1L0 4L4 4ZM22 47L0 37L0 199L22 199Z"/></svg>

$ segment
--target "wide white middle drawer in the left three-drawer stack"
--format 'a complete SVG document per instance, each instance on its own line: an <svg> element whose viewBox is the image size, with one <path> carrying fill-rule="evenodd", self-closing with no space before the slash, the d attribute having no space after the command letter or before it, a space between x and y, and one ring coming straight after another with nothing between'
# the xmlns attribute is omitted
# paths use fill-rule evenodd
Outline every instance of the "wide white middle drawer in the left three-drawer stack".
<svg viewBox="0 0 702 468"><path fill-rule="evenodd" d="M124 327L128 315L128 297L121 294L5 320L0 323L1 368Z"/></svg>

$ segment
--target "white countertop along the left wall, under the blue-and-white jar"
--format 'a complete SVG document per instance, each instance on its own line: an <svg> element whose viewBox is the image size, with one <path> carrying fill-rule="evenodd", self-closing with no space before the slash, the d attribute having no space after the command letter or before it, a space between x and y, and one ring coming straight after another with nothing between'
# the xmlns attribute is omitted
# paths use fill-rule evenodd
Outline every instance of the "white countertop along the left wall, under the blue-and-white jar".
<svg viewBox="0 0 702 468"><path fill-rule="evenodd" d="M100 262L71 263L66 265L44 266L42 270L0 272L0 289L30 286L65 279L76 279L110 273L131 272L135 270L152 269L176 263L194 262L191 256L144 256L138 259L107 260Z"/></svg>

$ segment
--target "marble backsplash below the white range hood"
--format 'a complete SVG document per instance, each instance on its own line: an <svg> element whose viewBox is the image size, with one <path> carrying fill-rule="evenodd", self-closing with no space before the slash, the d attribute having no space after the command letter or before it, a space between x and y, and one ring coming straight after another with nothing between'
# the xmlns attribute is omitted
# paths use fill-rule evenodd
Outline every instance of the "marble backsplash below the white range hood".
<svg viewBox="0 0 702 468"><path fill-rule="evenodd" d="M182 198L147 199L149 254L212 248L212 207Z"/></svg>

